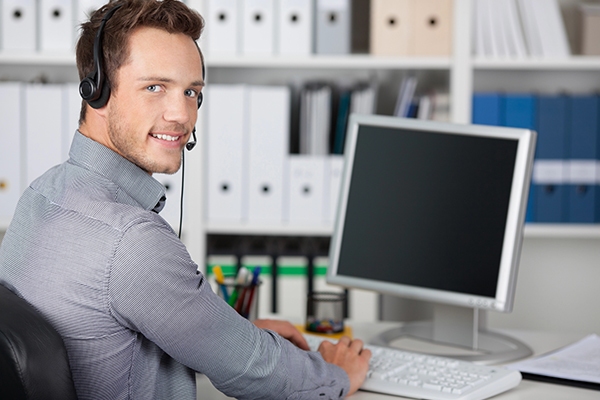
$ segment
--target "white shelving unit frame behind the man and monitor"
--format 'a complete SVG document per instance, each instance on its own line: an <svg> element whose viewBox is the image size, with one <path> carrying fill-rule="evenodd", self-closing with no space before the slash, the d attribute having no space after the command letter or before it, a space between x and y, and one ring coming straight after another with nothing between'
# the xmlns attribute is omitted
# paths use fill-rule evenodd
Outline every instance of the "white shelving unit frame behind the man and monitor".
<svg viewBox="0 0 600 400"><path fill-rule="evenodd" d="M202 4L202 2L196 2ZM573 8L576 1L565 0ZM454 0L454 44L451 57L373 57L369 55L307 57L211 57L206 54L207 82L251 84L300 84L313 78L341 81L375 78L381 88L378 112L393 107L394 95L402 77L416 73L424 86L444 87L451 98L451 120L468 123L471 119L471 96L474 90L506 89L559 91L600 89L600 57L572 56L567 59L474 58L471 55L471 11L473 0ZM202 10L200 10L202 11ZM29 81L44 74L51 82L77 82L73 54L2 54L0 79ZM387 103L387 104L386 104ZM200 110L199 127L203 120ZM332 226L214 224L204 221L204 143L201 129L199 145L186 154L186 199L183 239L192 256L201 260L205 254L207 234L315 235L327 236ZM0 221L0 231L7 221ZM534 224L525 229L526 238L600 238L598 226L563 226Z"/></svg>

